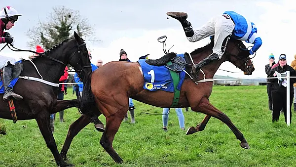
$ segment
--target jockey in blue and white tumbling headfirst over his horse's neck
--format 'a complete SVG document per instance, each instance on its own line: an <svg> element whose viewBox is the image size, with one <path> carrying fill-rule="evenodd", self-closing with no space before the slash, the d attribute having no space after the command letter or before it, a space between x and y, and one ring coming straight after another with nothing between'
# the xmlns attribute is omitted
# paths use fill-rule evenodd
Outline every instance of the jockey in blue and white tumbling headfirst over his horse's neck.
<svg viewBox="0 0 296 167"><path fill-rule="evenodd" d="M181 22L189 42L197 42L206 37L215 36L213 53L192 66L191 74L195 81L198 78L198 71L202 67L221 59L229 37L254 44L252 49L247 50L246 54L248 55L254 54L262 44L255 24L234 11L225 11L222 15L217 15L196 30L193 30L190 22L186 20L187 13L167 12L167 15Z"/></svg>

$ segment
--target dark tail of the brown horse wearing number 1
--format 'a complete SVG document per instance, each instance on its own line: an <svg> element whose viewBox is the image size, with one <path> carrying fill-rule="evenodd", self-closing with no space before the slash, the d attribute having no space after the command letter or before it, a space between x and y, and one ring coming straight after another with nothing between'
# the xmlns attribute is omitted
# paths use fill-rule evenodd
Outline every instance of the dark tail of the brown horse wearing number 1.
<svg viewBox="0 0 296 167"><path fill-rule="evenodd" d="M83 90L82 90L82 98L81 98L81 112L83 114L91 112L91 108L95 107L95 96L91 91L91 76L92 73L88 73L84 76L83 81Z"/></svg>

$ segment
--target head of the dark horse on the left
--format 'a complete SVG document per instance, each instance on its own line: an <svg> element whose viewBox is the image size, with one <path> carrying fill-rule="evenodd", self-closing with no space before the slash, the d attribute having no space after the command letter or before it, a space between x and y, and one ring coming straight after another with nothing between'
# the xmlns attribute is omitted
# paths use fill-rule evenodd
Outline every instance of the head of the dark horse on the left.
<svg viewBox="0 0 296 167"><path fill-rule="evenodd" d="M75 51L69 58L69 64L74 67L75 72L81 79L84 79L85 74L91 72L90 60L88 57L88 50L85 46L85 42L82 38L74 32L74 38L76 41ZM72 48L73 49L73 48Z"/></svg>

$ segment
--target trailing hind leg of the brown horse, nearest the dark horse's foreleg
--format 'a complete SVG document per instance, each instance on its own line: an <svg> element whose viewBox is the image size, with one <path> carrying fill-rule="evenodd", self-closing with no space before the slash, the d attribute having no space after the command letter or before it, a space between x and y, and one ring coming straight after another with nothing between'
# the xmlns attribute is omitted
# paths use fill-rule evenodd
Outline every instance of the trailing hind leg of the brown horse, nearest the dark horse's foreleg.
<svg viewBox="0 0 296 167"><path fill-rule="evenodd" d="M61 151L61 157L63 160L67 159L67 152L70 148L73 138L78 134L78 132L83 129L86 125L91 123L91 119L86 115L81 115L78 120L70 125L64 146Z"/></svg>

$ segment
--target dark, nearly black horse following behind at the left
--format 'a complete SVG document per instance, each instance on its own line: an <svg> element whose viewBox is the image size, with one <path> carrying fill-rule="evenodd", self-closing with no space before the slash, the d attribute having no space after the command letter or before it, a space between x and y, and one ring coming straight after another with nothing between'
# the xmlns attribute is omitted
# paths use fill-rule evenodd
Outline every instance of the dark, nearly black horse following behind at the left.
<svg viewBox="0 0 296 167"><path fill-rule="evenodd" d="M43 55L33 60L43 80L51 83L59 83L67 64L84 78L84 74L91 73L88 51L81 39L75 32L74 38L65 40L53 48L45 51ZM23 60L24 70L20 76L40 78L34 65ZM14 100L18 120L36 119L41 134L47 147L52 152L58 166L72 166L65 163L57 149L54 137L50 130L49 116L61 110L74 107L76 100L57 101L58 87L45 83L19 79L14 86L14 91L23 96L23 100ZM7 101L2 100L0 95L0 118L11 120Z"/></svg>

